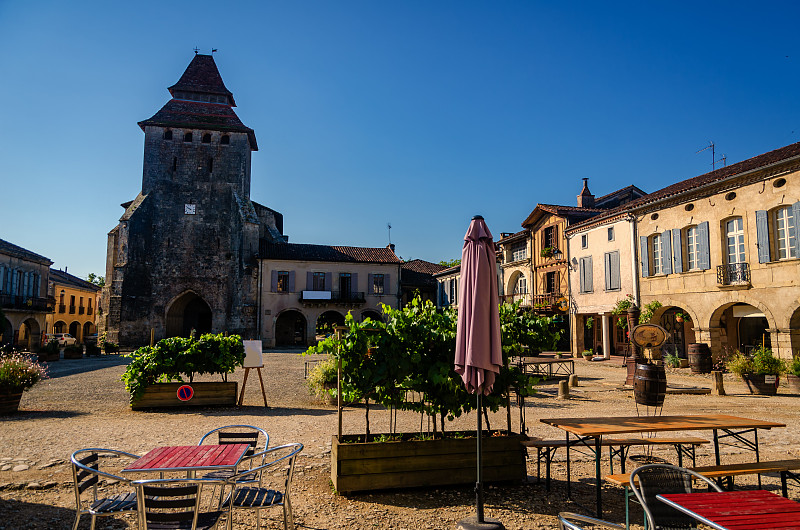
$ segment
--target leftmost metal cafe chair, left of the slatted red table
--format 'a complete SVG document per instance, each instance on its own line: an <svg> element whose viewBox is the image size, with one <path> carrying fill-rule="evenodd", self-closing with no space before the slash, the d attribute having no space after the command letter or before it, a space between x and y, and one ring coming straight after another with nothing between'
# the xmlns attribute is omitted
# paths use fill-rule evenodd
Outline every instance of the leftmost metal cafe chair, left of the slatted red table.
<svg viewBox="0 0 800 530"><path fill-rule="evenodd" d="M136 513L135 491L131 490L110 497L98 498L97 485L101 478L108 478L126 485L131 483L126 478L101 470L101 459L105 461L103 457L114 458L115 463L119 462L120 457L131 460L139 458L138 455L116 449L79 449L72 453L70 461L72 463L72 481L75 487L75 524L72 525L73 530L77 530L82 515L90 515L92 517L91 528L94 530L97 517ZM84 492L90 488L91 497L88 494L84 495Z"/></svg>

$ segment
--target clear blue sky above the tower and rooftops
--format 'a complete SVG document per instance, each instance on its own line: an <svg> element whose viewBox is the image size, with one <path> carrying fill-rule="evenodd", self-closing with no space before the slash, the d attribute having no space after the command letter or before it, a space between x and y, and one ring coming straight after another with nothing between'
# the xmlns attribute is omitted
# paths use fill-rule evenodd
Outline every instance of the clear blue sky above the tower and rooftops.
<svg viewBox="0 0 800 530"><path fill-rule="evenodd" d="M655 191L800 141L796 2L0 1L0 238L105 270L193 48L291 242L460 257L469 220Z"/></svg>

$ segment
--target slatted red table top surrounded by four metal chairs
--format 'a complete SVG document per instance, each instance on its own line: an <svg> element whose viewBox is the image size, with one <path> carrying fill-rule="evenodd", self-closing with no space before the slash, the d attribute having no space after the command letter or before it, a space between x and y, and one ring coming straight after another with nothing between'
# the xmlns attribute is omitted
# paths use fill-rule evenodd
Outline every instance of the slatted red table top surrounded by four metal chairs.
<svg viewBox="0 0 800 530"><path fill-rule="evenodd" d="M156 447L122 471L230 469L239 464L248 449L250 449L250 444Z"/></svg>

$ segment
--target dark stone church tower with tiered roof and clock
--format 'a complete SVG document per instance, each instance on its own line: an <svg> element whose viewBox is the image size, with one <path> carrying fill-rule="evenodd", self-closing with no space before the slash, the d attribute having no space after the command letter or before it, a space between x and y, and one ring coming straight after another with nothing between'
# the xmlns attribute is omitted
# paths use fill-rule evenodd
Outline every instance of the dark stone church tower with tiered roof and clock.
<svg viewBox="0 0 800 530"><path fill-rule="evenodd" d="M257 335L259 239L283 216L250 200L256 136L211 55L195 55L144 131L142 191L108 234L101 332L122 346L191 330Z"/></svg>

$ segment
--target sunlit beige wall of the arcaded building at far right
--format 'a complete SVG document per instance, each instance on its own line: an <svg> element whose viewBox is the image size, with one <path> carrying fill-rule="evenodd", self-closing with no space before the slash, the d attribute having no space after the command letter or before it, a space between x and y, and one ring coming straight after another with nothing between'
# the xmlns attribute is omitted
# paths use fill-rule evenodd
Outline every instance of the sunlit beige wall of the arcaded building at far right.
<svg viewBox="0 0 800 530"><path fill-rule="evenodd" d="M653 236L675 229L681 234L681 268L685 271L675 272L678 261L673 255L670 274L661 272L642 277L642 304L658 300L664 305L655 315L656 322L660 322L659 318L669 310L680 309L687 313L691 317L688 327L697 342L709 343L715 356L726 346L749 348L756 342L760 343L752 336L752 330L747 331L755 322L747 318L760 318L759 314L766 319L765 334L761 339L771 343L773 351L784 358L800 354L800 260L796 257L778 259L776 256L774 215L776 209L791 208L798 201L800 174L794 163L794 167L783 165L751 172L703 193L694 192L660 207L637 212L640 274L646 276L642 273L644 268L650 273L653 271ZM766 263L759 263L759 249L763 253L765 245L758 244L756 225L761 214L757 211L767 213L765 226L769 233L771 256ZM725 226L728 220L737 217L742 219L745 266L729 269ZM708 222L710 263L708 268L687 270L687 228L704 222ZM800 228L797 217L795 224ZM641 259L642 237L648 238L644 247L648 249L648 263L644 265ZM671 247L674 249L674 243ZM729 270L734 273L733 277L725 276ZM745 280L746 272L749 272L749 279ZM740 304L751 307L742 308ZM734 307L736 305L739 309ZM750 316L743 317L748 311Z"/></svg>

